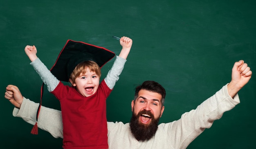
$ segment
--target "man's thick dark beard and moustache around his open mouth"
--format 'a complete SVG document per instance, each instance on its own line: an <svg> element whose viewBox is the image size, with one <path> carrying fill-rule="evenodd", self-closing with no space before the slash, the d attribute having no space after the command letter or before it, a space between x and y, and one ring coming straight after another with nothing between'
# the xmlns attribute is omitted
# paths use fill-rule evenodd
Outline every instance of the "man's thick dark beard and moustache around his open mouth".
<svg viewBox="0 0 256 149"><path fill-rule="evenodd" d="M150 124L143 124L139 122L141 114L148 114L151 117ZM160 118L160 116L159 116ZM133 136L138 141L146 141L155 136L155 132L157 131L159 118L155 119L153 114L149 111L140 111L137 115L132 112L132 118L130 120L130 129L132 131Z"/></svg>

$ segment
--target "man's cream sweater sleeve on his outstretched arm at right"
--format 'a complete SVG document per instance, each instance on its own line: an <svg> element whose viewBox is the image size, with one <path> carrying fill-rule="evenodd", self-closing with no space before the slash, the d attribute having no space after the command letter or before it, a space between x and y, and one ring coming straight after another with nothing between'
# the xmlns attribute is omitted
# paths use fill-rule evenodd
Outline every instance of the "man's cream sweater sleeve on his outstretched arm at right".
<svg viewBox="0 0 256 149"><path fill-rule="evenodd" d="M238 103L238 94L232 99L225 85L195 110L182 114L179 120L170 125L163 124L159 127L164 127L168 131L167 137L172 145L185 149L204 129L210 128L213 121L220 119L224 112L233 109Z"/></svg>

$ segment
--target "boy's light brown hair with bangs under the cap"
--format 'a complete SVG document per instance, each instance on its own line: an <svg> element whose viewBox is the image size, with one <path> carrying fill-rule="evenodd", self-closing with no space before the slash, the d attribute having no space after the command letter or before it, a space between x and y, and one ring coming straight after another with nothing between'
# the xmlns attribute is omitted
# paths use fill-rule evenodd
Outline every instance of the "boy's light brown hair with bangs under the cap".
<svg viewBox="0 0 256 149"><path fill-rule="evenodd" d="M101 77L101 68L95 61L84 61L79 63L70 75L70 82L75 83L75 79L86 73L85 68L89 68L92 72L95 72L99 77Z"/></svg>

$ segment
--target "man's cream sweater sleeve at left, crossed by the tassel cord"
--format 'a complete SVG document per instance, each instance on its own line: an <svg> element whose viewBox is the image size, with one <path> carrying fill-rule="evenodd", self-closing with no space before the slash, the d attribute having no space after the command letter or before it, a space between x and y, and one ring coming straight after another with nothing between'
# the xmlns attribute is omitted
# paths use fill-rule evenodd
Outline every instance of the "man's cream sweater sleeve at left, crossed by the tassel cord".
<svg viewBox="0 0 256 149"><path fill-rule="evenodd" d="M35 125L38 106L39 103L23 97L20 109L14 107L13 116L21 117L25 122ZM40 129L48 131L54 138L63 138L61 111L41 106L37 125Z"/></svg>

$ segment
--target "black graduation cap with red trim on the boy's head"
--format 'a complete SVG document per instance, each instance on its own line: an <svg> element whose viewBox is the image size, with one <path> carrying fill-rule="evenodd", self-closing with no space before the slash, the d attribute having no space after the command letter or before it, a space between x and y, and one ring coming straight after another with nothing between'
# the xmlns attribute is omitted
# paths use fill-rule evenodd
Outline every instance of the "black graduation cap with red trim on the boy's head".
<svg viewBox="0 0 256 149"><path fill-rule="evenodd" d="M95 61L101 68L114 56L115 53L106 48L69 39L58 55L51 72L58 80L68 82L77 64L83 61Z"/></svg>

